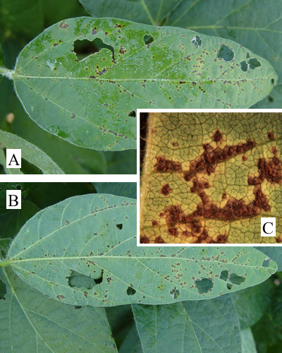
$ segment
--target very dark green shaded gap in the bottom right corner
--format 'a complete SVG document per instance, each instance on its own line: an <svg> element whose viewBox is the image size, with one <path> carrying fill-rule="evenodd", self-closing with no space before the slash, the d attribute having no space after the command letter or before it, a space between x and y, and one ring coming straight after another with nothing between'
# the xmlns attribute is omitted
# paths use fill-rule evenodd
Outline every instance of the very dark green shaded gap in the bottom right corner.
<svg viewBox="0 0 282 353"><path fill-rule="evenodd" d="M282 345L282 285L281 280L274 283L264 316L252 326L258 353L279 352Z"/></svg>

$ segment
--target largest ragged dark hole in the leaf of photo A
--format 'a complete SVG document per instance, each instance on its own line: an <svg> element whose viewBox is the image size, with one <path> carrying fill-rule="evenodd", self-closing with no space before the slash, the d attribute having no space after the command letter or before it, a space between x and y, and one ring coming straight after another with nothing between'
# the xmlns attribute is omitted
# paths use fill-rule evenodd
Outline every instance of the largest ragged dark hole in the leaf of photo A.
<svg viewBox="0 0 282 353"><path fill-rule="evenodd" d="M101 38L95 38L94 40L75 40L73 43L73 51L75 52L78 61L81 61L91 54L99 52L101 49L109 49L113 55L114 60L114 47L108 45L102 41Z"/></svg>

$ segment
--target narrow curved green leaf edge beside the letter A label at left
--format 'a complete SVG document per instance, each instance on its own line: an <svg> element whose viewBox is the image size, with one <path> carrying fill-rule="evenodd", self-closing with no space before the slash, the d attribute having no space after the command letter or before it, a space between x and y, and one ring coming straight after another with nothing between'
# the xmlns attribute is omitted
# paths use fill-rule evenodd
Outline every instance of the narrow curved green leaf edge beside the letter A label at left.
<svg viewBox="0 0 282 353"><path fill-rule="evenodd" d="M35 145L13 135L13 133L0 130L0 150L4 148L20 148L22 150L22 158L34 164L43 174L63 174L63 171L56 163ZM6 163L4 167L6 167ZM7 169L7 171L11 171L11 169Z"/></svg>

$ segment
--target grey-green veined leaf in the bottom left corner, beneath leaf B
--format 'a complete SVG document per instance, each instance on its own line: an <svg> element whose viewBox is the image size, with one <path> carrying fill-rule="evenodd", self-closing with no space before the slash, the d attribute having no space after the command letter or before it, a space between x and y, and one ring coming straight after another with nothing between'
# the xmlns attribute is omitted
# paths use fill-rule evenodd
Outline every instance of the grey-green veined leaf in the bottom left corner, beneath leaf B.
<svg viewBox="0 0 282 353"><path fill-rule="evenodd" d="M5 270L0 300L1 352L117 352L102 308L62 304Z"/></svg>

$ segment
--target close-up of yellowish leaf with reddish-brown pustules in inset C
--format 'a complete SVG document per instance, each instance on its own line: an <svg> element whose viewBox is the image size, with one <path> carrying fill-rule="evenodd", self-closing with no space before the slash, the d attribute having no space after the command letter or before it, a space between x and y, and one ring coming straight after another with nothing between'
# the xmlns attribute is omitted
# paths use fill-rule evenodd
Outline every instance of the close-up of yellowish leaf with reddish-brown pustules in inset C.
<svg viewBox="0 0 282 353"><path fill-rule="evenodd" d="M281 242L281 114L152 113L147 131L141 243Z"/></svg>

